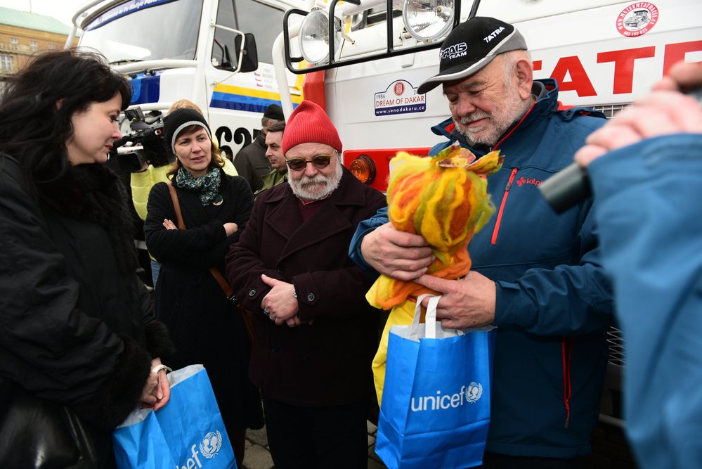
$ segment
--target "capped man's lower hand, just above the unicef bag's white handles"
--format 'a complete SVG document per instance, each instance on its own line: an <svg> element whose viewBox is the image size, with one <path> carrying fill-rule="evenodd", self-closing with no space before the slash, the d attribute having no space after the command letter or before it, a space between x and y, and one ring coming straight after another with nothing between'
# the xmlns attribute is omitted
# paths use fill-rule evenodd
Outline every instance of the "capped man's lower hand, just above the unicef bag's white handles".
<svg viewBox="0 0 702 469"><path fill-rule="evenodd" d="M460 280L446 280L423 275L415 282L441 293L436 305L436 319L445 328L463 329L488 326L495 321L495 282L486 276L469 271ZM429 298L422 301L426 307Z"/></svg>

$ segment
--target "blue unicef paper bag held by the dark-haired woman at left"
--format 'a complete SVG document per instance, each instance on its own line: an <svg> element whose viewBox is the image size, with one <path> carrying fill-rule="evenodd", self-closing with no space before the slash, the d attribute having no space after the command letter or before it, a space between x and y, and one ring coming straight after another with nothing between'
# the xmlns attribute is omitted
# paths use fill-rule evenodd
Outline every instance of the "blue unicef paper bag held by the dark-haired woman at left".
<svg viewBox="0 0 702 469"><path fill-rule="evenodd" d="M234 450L204 366L186 366L168 378L168 403L156 412L146 409L141 420L143 411L135 411L113 433L117 467L235 469Z"/></svg>

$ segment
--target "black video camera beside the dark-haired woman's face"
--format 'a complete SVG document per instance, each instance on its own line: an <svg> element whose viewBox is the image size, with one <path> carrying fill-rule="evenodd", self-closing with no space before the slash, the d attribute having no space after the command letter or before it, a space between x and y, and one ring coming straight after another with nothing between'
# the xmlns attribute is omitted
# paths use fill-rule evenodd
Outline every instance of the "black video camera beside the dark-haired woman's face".
<svg viewBox="0 0 702 469"><path fill-rule="evenodd" d="M166 142L163 119L160 111L144 115L141 108L127 109L124 115L129 120L131 134L115 141L110 156L116 156L124 171L141 171L145 163L160 167L170 165L175 157Z"/></svg>

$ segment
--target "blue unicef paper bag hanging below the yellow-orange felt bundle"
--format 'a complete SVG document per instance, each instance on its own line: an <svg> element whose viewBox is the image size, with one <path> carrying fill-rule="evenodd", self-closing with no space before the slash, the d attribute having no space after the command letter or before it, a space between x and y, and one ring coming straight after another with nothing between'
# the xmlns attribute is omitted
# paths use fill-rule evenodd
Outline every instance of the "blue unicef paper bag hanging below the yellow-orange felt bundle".
<svg viewBox="0 0 702 469"><path fill-rule="evenodd" d="M444 329L432 297L393 326L375 452L390 469L481 465L490 423L493 328Z"/></svg>

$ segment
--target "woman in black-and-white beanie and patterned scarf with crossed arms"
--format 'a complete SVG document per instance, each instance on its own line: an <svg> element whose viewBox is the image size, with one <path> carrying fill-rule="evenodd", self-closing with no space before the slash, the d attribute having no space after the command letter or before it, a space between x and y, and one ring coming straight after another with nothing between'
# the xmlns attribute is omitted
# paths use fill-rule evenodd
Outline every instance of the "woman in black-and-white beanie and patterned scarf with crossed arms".
<svg viewBox="0 0 702 469"><path fill-rule="evenodd" d="M178 349L171 365L207 368L241 467L246 429L263 426L263 411L258 390L248 379L245 323L215 275L223 272L224 257L239 239L254 197L245 179L222 171L202 114L176 109L164 118L164 133L176 162L169 172L170 184L160 182L151 189L144 224L146 246L162 263L156 312ZM183 229L176 226L172 189Z"/></svg>

